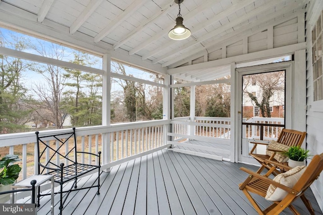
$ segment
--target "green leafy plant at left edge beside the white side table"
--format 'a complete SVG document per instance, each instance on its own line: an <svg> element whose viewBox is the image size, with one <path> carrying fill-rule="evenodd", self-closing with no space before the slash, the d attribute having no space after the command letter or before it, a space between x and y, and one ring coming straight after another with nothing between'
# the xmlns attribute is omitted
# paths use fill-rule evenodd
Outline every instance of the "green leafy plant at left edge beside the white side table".
<svg viewBox="0 0 323 215"><path fill-rule="evenodd" d="M21 161L18 155L6 155L0 160L0 184L13 184L19 177L21 167L14 162Z"/></svg>

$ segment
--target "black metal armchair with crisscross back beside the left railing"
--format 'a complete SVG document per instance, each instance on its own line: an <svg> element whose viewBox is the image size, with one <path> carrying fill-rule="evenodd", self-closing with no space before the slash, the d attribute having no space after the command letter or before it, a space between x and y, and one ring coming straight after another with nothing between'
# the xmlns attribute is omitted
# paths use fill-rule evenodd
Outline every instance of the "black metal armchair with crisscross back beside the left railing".
<svg viewBox="0 0 323 215"><path fill-rule="evenodd" d="M70 132L63 132L58 134L51 135L41 135L38 131L36 131L37 136L37 149L38 149L38 174L50 174L54 175L55 182L60 184L60 191L55 194L60 194L60 214L62 214L64 203L71 193L71 191L88 189L92 187L97 187L97 195L100 194L100 160L101 160L101 152L98 152L98 155L88 152L80 152L77 151L77 139L75 135L75 128ZM69 140L74 141L73 147L70 148ZM54 144L50 145L50 140L56 140ZM56 149L54 149L56 148ZM61 151L65 149L65 154ZM98 165L92 164L81 164L78 163L77 157L78 155L88 155L88 156L96 156L98 157ZM74 157L72 159L71 157ZM59 164L60 163L60 164ZM90 172L98 170L98 178L97 185L92 185L88 187L82 187L77 189L77 179ZM67 191L63 191L63 184L74 180L71 188ZM73 189L74 187L74 189ZM63 201L63 193L67 193L65 199ZM40 194L40 190L38 190L38 207L39 198L42 195L49 194Z"/></svg>

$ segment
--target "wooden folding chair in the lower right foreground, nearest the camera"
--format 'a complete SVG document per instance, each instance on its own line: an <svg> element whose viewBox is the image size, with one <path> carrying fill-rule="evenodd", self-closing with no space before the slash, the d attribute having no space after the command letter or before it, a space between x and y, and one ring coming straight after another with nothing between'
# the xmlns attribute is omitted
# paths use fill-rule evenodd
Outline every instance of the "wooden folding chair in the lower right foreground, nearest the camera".
<svg viewBox="0 0 323 215"><path fill-rule="evenodd" d="M274 171L275 168L276 167L273 166L270 171ZM244 192L244 194L247 196L247 198L259 214L279 214L287 207L294 214L300 214L292 205L293 201L297 197L301 198L310 214L315 214L314 209L312 208L311 203L305 197L304 192L313 183L313 181L318 178L320 172L323 170L323 153L320 155L315 155L313 157L305 172L301 175L297 183L292 188L275 182L272 179L267 178L266 176L254 173L246 168L240 169L250 175L243 183L239 184L239 189ZM269 207L261 210L259 205L251 196L250 192L265 197L267 189L271 184L287 191L288 194L281 201L275 201Z"/></svg>

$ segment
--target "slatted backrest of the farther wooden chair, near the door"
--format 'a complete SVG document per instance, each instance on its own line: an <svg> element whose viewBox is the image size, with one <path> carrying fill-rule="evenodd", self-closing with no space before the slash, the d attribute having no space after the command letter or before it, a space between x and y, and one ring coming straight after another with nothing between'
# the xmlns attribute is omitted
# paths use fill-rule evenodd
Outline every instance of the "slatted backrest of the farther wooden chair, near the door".
<svg viewBox="0 0 323 215"><path fill-rule="evenodd" d="M302 146L305 136L306 136L305 131L302 132L298 130L283 128L281 133L279 134L277 142L279 142L280 144L287 145L289 147L294 147L294 146L300 147Z"/></svg>

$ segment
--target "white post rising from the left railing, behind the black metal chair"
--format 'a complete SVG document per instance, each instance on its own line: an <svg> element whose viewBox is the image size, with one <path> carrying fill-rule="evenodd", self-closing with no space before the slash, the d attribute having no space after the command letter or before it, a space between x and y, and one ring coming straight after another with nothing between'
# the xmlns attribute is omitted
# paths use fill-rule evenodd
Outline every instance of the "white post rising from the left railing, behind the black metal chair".
<svg viewBox="0 0 323 215"><path fill-rule="evenodd" d="M102 125L111 124L111 55L103 55L103 81L102 81ZM110 133L102 133L102 165L110 163L111 149ZM109 169L103 170L109 172Z"/></svg>

